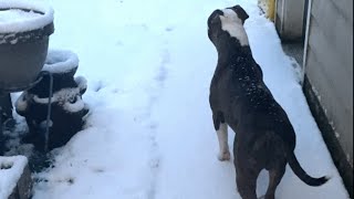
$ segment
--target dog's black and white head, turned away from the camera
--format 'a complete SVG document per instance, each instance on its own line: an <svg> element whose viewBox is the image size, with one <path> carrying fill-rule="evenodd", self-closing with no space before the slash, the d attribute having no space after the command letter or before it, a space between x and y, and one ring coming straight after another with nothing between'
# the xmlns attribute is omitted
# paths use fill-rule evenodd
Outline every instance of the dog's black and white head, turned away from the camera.
<svg viewBox="0 0 354 199"><path fill-rule="evenodd" d="M243 29L249 18L240 6L215 10L208 18L208 36L218 48L220 42L236 38L241 45L248 45L248 38Z"/></svg>

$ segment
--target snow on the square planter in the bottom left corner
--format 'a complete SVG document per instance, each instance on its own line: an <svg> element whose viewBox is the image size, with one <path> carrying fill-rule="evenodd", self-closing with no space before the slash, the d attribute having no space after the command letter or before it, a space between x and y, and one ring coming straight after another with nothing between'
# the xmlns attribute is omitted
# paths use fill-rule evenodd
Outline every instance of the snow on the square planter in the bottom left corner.
<svg viewBox="0 0 354 199"><path fill-rule="evenodd" d="M0 156L0 198L6 199L21 178L28 159L24 156Z"/></svg>

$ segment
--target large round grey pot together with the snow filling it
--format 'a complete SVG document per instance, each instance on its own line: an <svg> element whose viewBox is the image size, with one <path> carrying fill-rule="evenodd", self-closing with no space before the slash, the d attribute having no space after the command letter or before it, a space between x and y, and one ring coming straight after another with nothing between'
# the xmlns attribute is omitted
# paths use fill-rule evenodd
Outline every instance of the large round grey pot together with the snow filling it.
<svg viewBox="0 0 354 199"><path fill-rule="evenodd" d="M29 90L44 75L51 77L41 70L53 32L51 7L39 1L0 0L0 96ZM0 115L1 109L0 105ZM50 106L48 109L50 114ZM1 139L0 117L0 145Z"/></svg>

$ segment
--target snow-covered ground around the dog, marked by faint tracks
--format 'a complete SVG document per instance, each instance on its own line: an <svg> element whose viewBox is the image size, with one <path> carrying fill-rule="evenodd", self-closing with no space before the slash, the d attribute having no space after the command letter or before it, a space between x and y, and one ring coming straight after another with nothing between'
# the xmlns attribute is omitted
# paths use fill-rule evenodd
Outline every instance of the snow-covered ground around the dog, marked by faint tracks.
<svg viewBox="0 0 354 199"><path fill-rule="evenodd" d="M309 187L288 167L279 199L346 199L310 113L293 61L257 0L50 0L50 48L77 53L87 78L85 129L56 149L54 168L37 174L33 199L236 199L232 161L217 159L208 103L217 52L207 18L241 4L253 56L298 134L296 156L315 177ZM230 146L233 135L230 134ZM268 175L258 180L266 192Z"/></svg>

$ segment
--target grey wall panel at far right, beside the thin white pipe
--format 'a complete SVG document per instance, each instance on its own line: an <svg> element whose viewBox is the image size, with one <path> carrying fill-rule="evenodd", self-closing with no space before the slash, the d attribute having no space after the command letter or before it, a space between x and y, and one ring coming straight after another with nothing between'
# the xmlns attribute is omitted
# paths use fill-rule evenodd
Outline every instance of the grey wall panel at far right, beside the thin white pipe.
<svg viewBox="0 0 354 199"><path fill-rule="evenodd" d="M312 0L305 73L353 167L353 0Z"/></svg>

